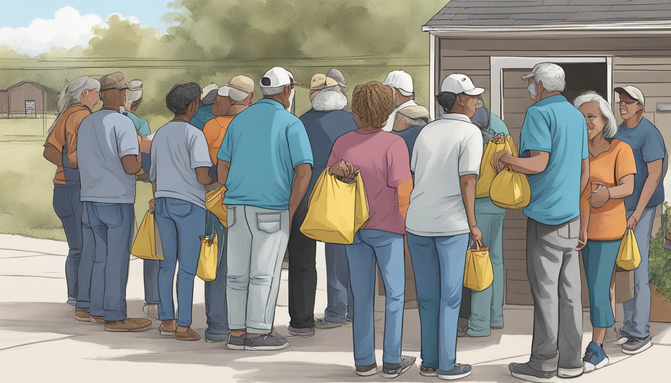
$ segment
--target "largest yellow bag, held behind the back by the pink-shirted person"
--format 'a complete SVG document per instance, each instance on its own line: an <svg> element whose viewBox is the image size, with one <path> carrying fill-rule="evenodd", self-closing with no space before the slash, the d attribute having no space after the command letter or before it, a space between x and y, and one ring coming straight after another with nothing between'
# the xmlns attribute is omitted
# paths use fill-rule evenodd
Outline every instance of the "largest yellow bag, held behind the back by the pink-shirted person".
<svg viewBox="0 0 671 383"><path fill-rule="evenodd" d="M368 214L361 174L350 184L331 176L326 168L310 195L301 233L317 241L348 245L354 241L354 233L368 221Z"/></svg>

